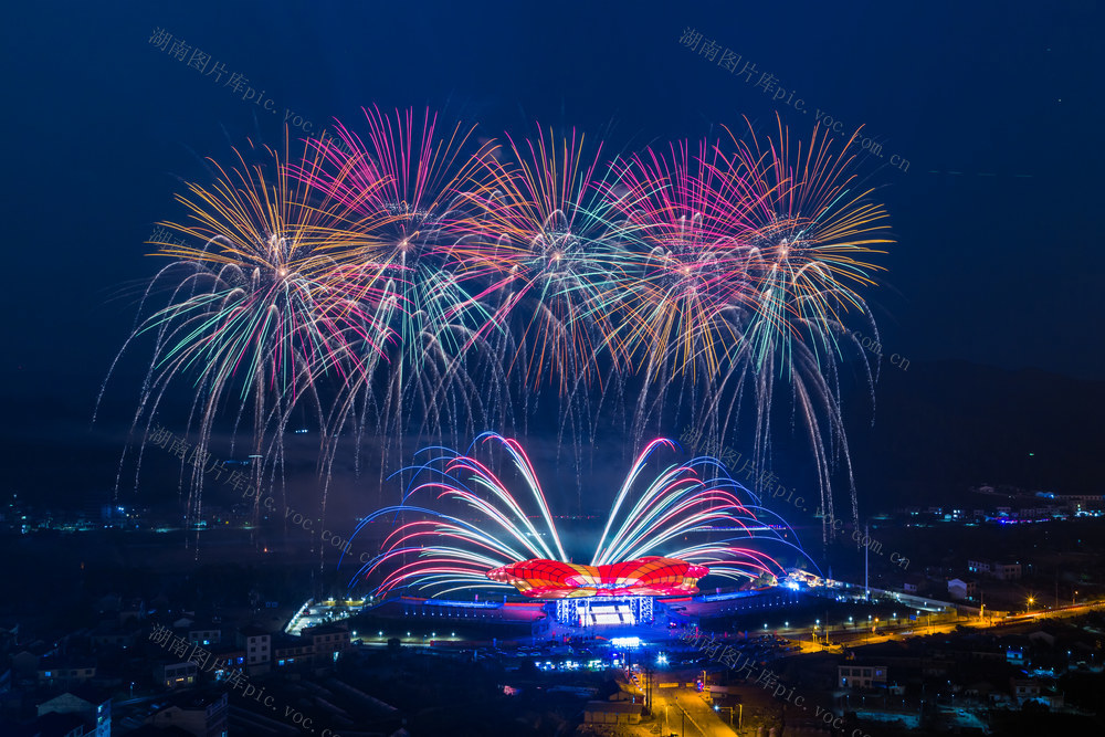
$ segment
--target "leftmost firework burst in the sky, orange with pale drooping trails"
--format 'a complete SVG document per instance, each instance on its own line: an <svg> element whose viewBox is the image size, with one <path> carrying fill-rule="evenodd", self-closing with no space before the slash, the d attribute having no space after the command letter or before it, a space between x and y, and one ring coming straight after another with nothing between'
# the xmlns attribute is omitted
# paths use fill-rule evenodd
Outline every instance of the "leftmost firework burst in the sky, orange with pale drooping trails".
<svg viewBox="0 0 1105 737"><path fill-rule="evenodd" d="M212 162L213 185L191 183L187 196L178 196L190 211L187 223L160 223L183 243L155 242L156 255L172 263L158 272L144 305L160 288L168 289L168 304L138 325L124 349L154 337L135 427L145 418L148 432L168 387L190 379L199 456L210 454L224 407L235 429L252 407L252 451L274 461L282 454L273 441L280 445L288 412L304 400L322 411L319 378L347 379L360 355L381 351L390 334L377 319L376 289L349 289L347 270L367 245L351 213L339 202L315 201L309 187L288 178L286 138L283 151L250 151L267 164L235 154L240 168ZM254 484L262 473L259 464ZM201 514L202 478L200 464L189 518Z"/></svg>

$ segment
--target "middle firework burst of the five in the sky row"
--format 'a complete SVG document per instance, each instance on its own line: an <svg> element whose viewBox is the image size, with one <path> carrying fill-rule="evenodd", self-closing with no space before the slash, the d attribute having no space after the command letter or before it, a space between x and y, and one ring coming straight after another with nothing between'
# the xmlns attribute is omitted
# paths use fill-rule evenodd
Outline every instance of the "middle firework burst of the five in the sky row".
<svg viewBox="0 0 1105 737"><path fill-rule="evenodd" d="M509 328L497 334L507 373L567 396L597 378L610 347L629 233L603 198L601 146L575 130L508 143L508 164L486 161L491 183L472 198L478 213L457 252L487 282L493 323Z"/></svg>

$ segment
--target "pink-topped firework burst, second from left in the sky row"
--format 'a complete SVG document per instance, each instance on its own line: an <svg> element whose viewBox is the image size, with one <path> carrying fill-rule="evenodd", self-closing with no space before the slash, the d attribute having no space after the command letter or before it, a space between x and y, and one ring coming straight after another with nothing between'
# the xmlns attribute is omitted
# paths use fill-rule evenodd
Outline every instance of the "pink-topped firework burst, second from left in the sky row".
<svg viewBox="0 0 1105 737"><path fill-rule="evenodd" d="M497 145L473 150L473 128L460 124L442 135L430 110L397 110L394 117L377 107L364 113L364 137L338 124L337 143L314 143L323 166L296 173L371 223L366 230L373 248L364 267L375 272L370 281L383 284L390 304L401 306L389 313L398 336L389 360L356 377L330 420L340 431L357 407L372 408L375 421L362 415L351 422L358 446L369 427L390 439L382 468L392 453L402 455L409 421L420 423L417 435L451 429L455 436L478 414L473 402L459 398L473 396L464 348L487 315L457 274L450 246L463 232L461 208L482 188L481 162ZM336 452L332 448L328 466Z"/></svg>

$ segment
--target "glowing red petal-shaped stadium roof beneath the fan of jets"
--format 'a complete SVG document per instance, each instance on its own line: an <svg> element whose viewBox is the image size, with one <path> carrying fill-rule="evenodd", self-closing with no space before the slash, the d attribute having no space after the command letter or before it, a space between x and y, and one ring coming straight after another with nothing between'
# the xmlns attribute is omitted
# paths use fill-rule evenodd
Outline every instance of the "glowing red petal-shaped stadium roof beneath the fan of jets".
<svg viewBox="0 0 1105 737"><path fill-rule="evenodd" d="M534 558L487 571L530 599L582 597L670 597L696 593L709 569L675 558L649 556L606 566L577 566Z"/></svg>

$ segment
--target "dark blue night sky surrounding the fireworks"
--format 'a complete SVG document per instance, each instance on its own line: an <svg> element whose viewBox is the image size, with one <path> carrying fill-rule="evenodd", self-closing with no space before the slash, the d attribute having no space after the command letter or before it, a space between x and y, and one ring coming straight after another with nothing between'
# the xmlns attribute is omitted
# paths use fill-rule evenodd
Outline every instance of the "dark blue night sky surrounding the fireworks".
<svg viewBox="0 0 1105 737"><path fill-rule="evenodd" d="M1099 446L1101 10L1094 0L9 8L0 491L105 494L114 483L148 357L119 367L107 419L90 429L93 404L159 266L144 241L154 222L181 215L181 179L206 180L203 158L227 160L248 138L278 141L285 112L318 129L360 120L373 103L430 106L487 136L529 133L534 120L575 126L611 154L743 129L743 116L769 131L777 112L800 136L823 115L863 124L883 157L860 172L897 241L865 295L886 351L945 377L966 365L1038 370L1050 378L1036 393L1018 396L1014 382L1001 409L1050 408L1048 435ZM221 62L222 82L150 43L158 28ZM774 75L806 109L682 45L687 28ZM225 86L233 73L273 112ZM978 370L971 380L987 386ZM919 390L905 375L890 383L896 396ZM1080 396L1084 422L1066 425L1064 403ZM870 407L855 411L870 423ZM913 427L885 411L875 415Z"/></svg>

